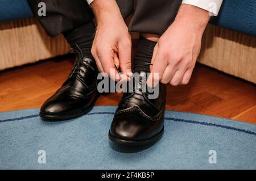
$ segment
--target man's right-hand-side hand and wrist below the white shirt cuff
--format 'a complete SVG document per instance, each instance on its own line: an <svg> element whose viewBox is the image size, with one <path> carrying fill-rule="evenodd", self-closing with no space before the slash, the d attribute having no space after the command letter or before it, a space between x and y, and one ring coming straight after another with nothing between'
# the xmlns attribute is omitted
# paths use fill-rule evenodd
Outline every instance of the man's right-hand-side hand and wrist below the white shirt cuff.
<svg viewBox="0 0 256 181"><path fill-rule="evenodd" d="M148 86L154 87L159 81L173 86L189 82L208 20L208 11L181 5L174 23L163 33L154 48ZM159 73L158 77L154 77L154 73Z"/></svg>

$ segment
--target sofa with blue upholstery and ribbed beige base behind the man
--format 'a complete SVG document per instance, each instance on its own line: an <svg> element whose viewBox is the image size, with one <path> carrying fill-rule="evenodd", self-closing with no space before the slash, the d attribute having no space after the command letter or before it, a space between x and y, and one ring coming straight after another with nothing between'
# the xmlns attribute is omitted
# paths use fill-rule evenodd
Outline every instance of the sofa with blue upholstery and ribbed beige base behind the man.
<svg viewBox="0 0 256 181"><path fill-rule="evenodd" d="M26 0L0 0L0 70L69 50L62 35L46 35ZM255 0L224 0L205 30L197 61L256 83Z"/></svg>

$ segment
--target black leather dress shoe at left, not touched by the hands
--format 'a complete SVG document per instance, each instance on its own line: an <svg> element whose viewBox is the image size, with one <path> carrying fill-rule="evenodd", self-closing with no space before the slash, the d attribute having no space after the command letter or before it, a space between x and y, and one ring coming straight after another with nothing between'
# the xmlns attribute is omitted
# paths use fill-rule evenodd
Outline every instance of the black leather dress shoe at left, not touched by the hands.
<svg viewBox="0 0 256 181"><path fill-rule="evenodd" d="M89 112L96 102L98 70L96 62L77 52L68 79L43 104L40 117L44 120L67 120Z"/></svg>

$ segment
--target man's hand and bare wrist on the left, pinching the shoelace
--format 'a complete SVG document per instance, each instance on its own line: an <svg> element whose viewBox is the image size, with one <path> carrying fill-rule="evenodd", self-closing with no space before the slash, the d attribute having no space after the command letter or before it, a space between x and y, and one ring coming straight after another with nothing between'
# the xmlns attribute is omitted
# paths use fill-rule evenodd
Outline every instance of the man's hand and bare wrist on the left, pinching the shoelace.
<svg viewBox="0 0 256 181"><path fill-rule="evenodd" d="M98 69L115 81L129 79L131 73L131 36L115 0L94 0L91 4L97 20L92 55ZM121 68L122 77L115 68ZM114 70L115 74L110 74Z"/></svg>

